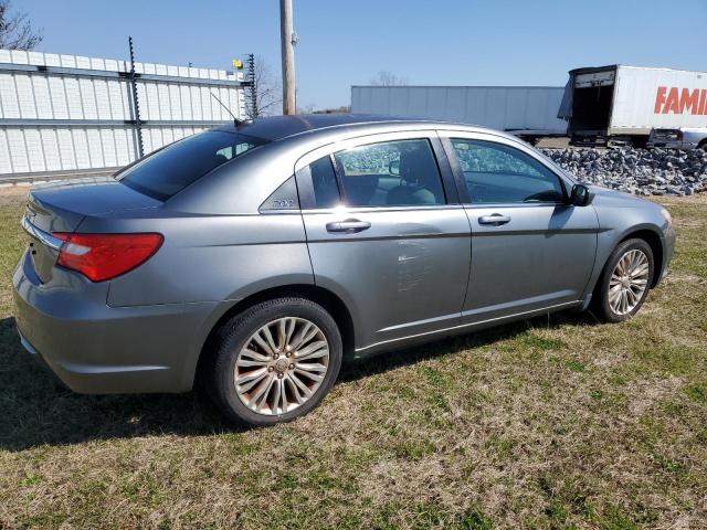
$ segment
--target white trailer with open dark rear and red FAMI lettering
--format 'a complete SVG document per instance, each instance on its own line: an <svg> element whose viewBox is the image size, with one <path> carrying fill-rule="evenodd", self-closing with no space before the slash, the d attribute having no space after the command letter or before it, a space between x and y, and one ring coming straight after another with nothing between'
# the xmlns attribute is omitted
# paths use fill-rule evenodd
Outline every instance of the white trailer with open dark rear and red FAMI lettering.
<svg viewBox="0 0 707 530"><path fill-rule="evenodd" d="M559 116L577 145L644 147L652 129L707 127L707 72L639 66L570 71Z"/></svg>

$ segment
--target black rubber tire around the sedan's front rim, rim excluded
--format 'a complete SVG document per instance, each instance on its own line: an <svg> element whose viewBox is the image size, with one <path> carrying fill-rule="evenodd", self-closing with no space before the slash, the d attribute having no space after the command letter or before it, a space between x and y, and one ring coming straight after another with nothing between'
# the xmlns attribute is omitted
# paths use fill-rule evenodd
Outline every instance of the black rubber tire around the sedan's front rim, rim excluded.
<svg viewBox="0 0 707 530"><path fill-rule="evenodd" d="M616 264L619 263L619 261L624 256L624 254L626 254L632 250L641 251L647 257L647 261L648 261L647 285L645 290L639 298L639 301L636 303L635 307L631 311L624 315L619 315L614 312L614 310L611 308L611 305L609 303L609 284L611 282L611 275L614 268L616 268ZM604 322L622 322L633 317L641 309L641 307L643 306L643 303L645 301L646 296L648 295L648 290L653 283L654 274L655 274L655 266L654 266L654 257L653 257L653 251L651 250L651 245L648 245L644 240L640 240L640 239L626 240L621 242L616 246L616 248L614 248L614 251L611 253L611 255L609 256L609 259L606 259L604 269L602 271L599 282L597 283L594 295L592 297L592 308L594 310L595 316Z"/></svg>

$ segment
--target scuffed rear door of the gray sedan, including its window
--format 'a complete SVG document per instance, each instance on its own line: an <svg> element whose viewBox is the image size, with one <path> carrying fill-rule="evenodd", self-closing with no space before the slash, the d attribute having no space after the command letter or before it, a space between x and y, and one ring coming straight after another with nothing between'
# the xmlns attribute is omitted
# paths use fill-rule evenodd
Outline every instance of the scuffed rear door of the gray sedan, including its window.
<svg viewBox="0 0 707 530"><path fill-rule="evenodd" d="M458 325L469 224L436 132L339 142L295 171L315 283L348 306L358 353Z"/></svg>

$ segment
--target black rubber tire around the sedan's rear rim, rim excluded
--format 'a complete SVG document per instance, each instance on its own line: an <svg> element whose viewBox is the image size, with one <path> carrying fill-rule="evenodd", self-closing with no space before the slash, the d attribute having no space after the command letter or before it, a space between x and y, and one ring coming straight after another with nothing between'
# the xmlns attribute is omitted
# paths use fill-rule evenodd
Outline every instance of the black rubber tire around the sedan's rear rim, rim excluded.
<svg viewBox="0 0 707 530"><path fill-rule="evenodd" d="M249 409L235 391L235 362L251 336L267 322L297 317L315 324L329 347L327 372L319 388L297 409L284 414L258 414ZM305 298L276 298L253 306L229 320L220 330L207 373L207 390L232 422L252 426L284 423L307 414L319 404L334 385L341 368L341 335L331 316L318 304Z"/></svg>

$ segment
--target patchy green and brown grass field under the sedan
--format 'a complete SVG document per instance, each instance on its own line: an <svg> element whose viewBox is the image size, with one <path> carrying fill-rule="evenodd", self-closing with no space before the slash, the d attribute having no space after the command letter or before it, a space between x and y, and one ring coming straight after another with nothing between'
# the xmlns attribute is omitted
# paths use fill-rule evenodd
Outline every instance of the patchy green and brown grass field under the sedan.
<svg viewBox="0 0 707 530"><path fill-rule="evenodd" d="M677 250L633 320L390 353L307 417L236 430L200 392L82 396L28 359L3 191L0 528L707 528L707 197L661 202Z"/></svg>

